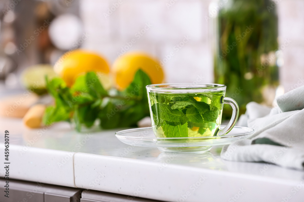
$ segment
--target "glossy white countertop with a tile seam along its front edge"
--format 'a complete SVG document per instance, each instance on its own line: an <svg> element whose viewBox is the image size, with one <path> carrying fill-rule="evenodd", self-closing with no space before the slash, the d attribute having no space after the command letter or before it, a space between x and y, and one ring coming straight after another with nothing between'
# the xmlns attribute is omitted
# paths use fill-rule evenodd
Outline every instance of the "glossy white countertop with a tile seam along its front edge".
<svg viewBox="0 0 304 202"><path fill-rule="evenodd" d="M9 177L172 202L303 201L304 172L266 163L223 161L221 147L203 154L134 147L116 130L79 134L68 123L29 130L0 119L0 154L9 130ZM3 164L4 165L4 164ZM5 175L4 166L0 176Z"/></svg>

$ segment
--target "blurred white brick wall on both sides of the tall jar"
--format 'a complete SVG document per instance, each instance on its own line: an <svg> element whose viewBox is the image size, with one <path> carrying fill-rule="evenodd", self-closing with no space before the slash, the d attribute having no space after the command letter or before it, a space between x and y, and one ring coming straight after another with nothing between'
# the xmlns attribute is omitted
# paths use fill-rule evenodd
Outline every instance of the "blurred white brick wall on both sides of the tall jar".
<svg viewBox="0 0 304 202"><path fill-rule="evenodd" d="M174 0L118 2L81 0L81 17L85 31L90 34L84 48L99 51L110 63L121 51L145 51L164 62L167 82L194 82L201 77L200 82L213 82L209 22L205 20L209 0L178 0L174 4ZM287 91L304 75L304 1L281 0L277 7L279 41L281 44L286 39L292 41L282 50L285 63L280 79ZM108 9L112 13L104 16ZM147 24L151 27L147 28ZM136 34L145 27L145 33ZM190 39L177 51L175 46L185 36Z"/></svg>

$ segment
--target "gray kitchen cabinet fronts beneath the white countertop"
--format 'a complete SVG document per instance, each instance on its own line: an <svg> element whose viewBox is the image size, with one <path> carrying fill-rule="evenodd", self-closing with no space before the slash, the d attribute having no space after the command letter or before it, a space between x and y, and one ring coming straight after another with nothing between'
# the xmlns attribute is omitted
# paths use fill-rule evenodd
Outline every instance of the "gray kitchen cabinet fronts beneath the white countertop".
<svg viewBox="0 0 304 202"><path fill-rule="evenodd" d="M5 181L0 178L0 202L160 202L103 191L11 179L9 197L5 197Z"/></svg>

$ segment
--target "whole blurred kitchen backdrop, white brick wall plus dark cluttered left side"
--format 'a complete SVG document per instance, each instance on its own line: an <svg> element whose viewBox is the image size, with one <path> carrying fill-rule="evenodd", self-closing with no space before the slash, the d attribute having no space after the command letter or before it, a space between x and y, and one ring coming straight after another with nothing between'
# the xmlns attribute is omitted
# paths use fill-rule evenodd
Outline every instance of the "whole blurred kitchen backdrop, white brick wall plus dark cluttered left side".
<svg viewBox="0 0 304 202"><path fill-rule="evenodd" d="M64 52L84 48L112 63L127 51L158 58L166 82L214 81L209 0L1 0L1 89L20 88L20 72L54 65ZM304 81L304 1L276 0L280 84ZM135 41L135 42L134 42Z"/></svg>

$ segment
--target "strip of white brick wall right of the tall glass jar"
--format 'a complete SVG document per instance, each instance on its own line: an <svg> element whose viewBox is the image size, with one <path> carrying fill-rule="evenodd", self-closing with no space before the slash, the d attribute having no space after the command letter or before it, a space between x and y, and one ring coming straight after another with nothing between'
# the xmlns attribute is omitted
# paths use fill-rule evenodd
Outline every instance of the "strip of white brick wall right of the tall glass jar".
<svg viewBox="0 0 304 202"><path fill-rule="evenodd" d="M283 52L284 65L280 70L285 91L304 85L304 1L282 0L278 4L279 42L291 42ZM284 46L283 46L284 47Z"/></svg>

